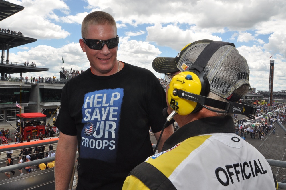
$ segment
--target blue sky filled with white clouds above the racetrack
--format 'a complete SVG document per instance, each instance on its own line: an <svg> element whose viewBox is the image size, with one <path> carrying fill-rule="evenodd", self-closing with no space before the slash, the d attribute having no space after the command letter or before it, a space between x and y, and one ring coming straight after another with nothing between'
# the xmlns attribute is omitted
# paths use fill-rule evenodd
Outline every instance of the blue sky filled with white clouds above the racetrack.
<svg viewBox="0 0 286 190"><path fill-rule="evenodd" d="M249 64L249 81L256 92L269 90L270 60L275 60L273 90L286 90L285 0L9 2L25 8L1 21L0 27L37 39L10 49L9 61L35 62L37 67L49 68L45 72L23 74L29 78L60 78L61 67L88 69L90 64L79 45L81 23L88 13L100 10L110 13L117 23L120 37L117 59L146 68L158 78L164 78L164 74L153 70L154 58L176 57L185 45L211 39L235 44Z"/></svg>

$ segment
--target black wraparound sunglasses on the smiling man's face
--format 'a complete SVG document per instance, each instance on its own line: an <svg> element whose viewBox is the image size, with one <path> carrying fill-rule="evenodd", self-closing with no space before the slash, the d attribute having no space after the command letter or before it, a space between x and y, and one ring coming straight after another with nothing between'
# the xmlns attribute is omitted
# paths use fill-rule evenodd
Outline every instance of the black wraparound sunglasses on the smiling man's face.
<svg viewBox="0 0 286 190"><path fill-rule="evenodd" d="M114 38L108 39L108 40L99 40L99 39L85 39L82 38L84 43L93 50L101 50L104 46L104 44L107 45L109 49L112 49L116 46L118 46L119 43L119 37L118 35Z"/></svg>

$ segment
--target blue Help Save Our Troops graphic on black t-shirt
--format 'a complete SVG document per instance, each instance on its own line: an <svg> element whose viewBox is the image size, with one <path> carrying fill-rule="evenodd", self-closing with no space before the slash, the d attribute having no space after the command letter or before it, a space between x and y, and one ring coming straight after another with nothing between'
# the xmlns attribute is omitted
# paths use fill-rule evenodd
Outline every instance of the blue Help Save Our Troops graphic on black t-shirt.
<svg viewBox="0 0 286 190"><path fill-rule="evenodd" d="M123 89L104 89L84 96L80 157L116 161Z"/></svg>

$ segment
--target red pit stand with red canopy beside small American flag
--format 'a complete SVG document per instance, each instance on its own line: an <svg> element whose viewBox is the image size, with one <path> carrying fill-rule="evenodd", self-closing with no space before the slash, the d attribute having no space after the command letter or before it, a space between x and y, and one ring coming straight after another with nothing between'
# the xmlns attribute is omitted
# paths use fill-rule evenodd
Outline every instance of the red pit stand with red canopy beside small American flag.
<svg viewBox="0 0 286 190"><path fill-rule="evenodd" d="M32 139L37 138L40 132L45 134L46 115L42 113L24 113L17 114L17 116L19 118L17 127L20 128L23 140L27 139L28 134Z"/></svg>

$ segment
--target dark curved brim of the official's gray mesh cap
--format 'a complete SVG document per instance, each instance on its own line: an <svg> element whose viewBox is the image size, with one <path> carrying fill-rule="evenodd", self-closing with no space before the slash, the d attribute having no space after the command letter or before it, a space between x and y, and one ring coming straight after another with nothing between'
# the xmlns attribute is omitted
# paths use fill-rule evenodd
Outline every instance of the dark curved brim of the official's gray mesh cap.
<svg viewBox="0 0 286 190"><path fill-rule="evenodd" d="M175 58L158 57L152 62L153 69L158 73L171 73L179 69L175 62Z"/></svg>

